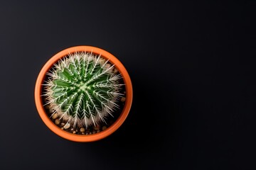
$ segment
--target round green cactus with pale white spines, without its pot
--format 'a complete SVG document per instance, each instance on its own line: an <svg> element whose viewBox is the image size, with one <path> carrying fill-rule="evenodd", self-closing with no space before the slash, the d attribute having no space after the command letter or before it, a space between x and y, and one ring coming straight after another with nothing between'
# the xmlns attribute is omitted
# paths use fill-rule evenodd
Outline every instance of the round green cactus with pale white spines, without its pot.
<svg viewBox="0 0 256 170"><path fill-rule="evenodd" d="M45 105L74 127L106 123L107 116L113 116L119 108L122 75L100 55L69 54L56 62L47 75L43 84Z"/></svg>

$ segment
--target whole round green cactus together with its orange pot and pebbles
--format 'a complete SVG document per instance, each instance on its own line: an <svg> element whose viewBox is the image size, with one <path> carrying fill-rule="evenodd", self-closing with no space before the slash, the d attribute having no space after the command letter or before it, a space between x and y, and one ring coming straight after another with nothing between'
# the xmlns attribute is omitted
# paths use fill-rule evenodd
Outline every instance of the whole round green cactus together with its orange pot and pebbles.
<svg viewBox="0 0 256 170"><path fill-rule="evenodd" d="M127 70L110 52L76 46L54 55L35 86L36 108L57 135L92 142L111 135L132 106Z"/></svg>

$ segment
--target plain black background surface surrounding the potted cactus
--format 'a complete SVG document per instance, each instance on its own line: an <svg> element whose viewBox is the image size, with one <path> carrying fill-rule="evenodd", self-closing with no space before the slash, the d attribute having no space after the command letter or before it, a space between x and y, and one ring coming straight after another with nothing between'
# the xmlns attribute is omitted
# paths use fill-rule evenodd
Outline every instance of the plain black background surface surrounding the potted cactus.
<svg viewBox="0 0 256 170"><path fill-rule="evenodd" d="M1 1L0 169L256 169L255 1ZM33 99L55 53L100 47L132 109L91 143L51 132Z"/></svg>

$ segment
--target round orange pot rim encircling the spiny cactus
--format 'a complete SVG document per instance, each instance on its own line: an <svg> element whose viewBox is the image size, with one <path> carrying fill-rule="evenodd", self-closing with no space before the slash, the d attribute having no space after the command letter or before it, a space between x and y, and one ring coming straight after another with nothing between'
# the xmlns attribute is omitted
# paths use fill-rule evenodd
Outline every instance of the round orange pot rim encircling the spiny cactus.
<svg viewBox="0 0 256 170"><path fill-rule="evenodd" d="M66 132L65 130L61 130L48 117L45 109L43 108L43 101L41 98L41 94L42 94L41 84L43 84L43 81L46 77L46 72L48 72L48 70L51 67L53 67L53 64L58 60L60 60L60 58L64 57L65 55L68 55L69 53L80 52L80 51L92 52L96 55L101 55L101 57L105 58L106 60L109 60L112 64L114 64L114 67L116 67L116 69L119 70L120 74L122 74L122 77L124 79L125 89L126 89L126 101L124 103L124 108L122 110L122 113L119 115L119 118L117 118L117 120L106 130L97 132L92 135L76 135L70 132ZM127 115L129 114L129 110L132 106L132 82L123 64L119 60L117 60L117 58L114 57L114 55L110 54L110 52L107 52L98 47L92 47L92 46L70 47L68 49L58 52L58 54L51 57L50 60L48 60L48 62L46 62L46 64L41 69L41 72L38 74L38 78L36 80L35 102L36 102L36 108L38 110L38 113L41 119L43 120L43 123L45 123L50 130L55 132L55 134L67 140L71 140L75 142L92 142L96 140L101 140L102 138L111 135L114 131L116 131L122 125L122 123L124 123L124 120L127 118Z"/></svg>

